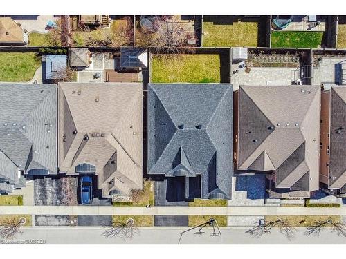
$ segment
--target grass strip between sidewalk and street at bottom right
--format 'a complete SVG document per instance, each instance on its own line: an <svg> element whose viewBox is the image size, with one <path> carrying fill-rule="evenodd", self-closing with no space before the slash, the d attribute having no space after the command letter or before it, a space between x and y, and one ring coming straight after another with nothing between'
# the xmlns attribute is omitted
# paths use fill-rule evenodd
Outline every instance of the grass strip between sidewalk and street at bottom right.
<svg viewBox="0 0 346 259"><path fill-rule="evenodd" d="M275 221L277 218L287 220L292 227L309 227L316 221L325 221L329 218L333 222L340 222L339 215L267 215L264 217L266 221Z"/></svg>

